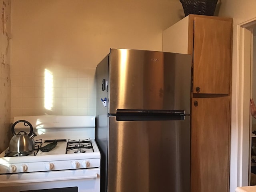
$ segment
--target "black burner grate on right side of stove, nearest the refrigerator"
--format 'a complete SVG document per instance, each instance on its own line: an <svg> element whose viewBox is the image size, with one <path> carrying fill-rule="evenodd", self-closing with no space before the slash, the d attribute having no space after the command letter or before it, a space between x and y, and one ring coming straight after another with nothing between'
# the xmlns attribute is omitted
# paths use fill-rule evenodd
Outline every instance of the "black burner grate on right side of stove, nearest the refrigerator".
<svg viewBox="0 0 256 192"><path fill-rule="evenodd" d="M94 152L92 147L92 141L90 139L85 140L71 140L69 139L67 142L66 154L70 150L77 149L74 153L85 153L85 149L91 149Z"/></svg>

